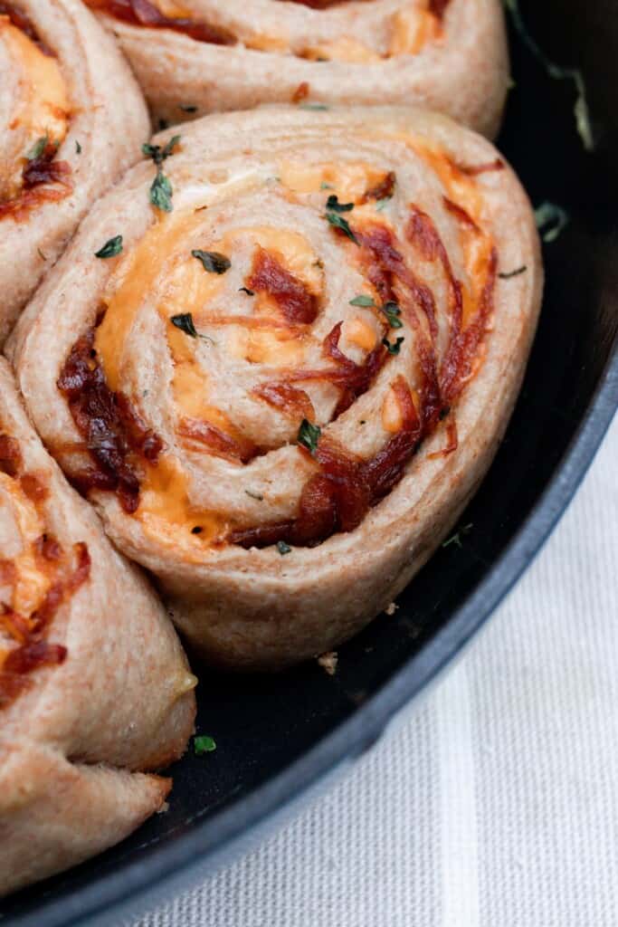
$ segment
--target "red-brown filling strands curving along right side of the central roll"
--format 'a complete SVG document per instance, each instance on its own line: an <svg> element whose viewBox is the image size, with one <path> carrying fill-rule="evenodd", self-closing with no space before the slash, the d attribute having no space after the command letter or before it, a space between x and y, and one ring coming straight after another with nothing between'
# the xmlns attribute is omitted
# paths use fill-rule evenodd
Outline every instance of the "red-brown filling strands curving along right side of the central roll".
<svg viewBox="0 0 618 927"><path fill-rule="evenodd" d="M450 211L480 233L465 210L457 204L446 204ZM471 226L471 227L472 227ZM365 227L359 233L361 260L365 262L367 274L383 300L395 297L405 306L406 299L423 311L429 322L430 333L420 326L416 311L407 313L414 328L417 342L417 356L423 373L420 413L412 400L410 387L402 375L391 385L397 397L402 415L402 426L385 446L370 460L354 459L332 440L323 438L314 454L319 471L309 479L303 489L294 521L275 525L246 528L233 531L228 540L243 547L265 547L277 540L292 544L315 544L330 537L335 531L349 531L357 527L367 511L385 497L401 479L420 442L429 434L441 417L441 413L457 399L466 378L471 375L473 361L486 332L486 324L493 311L493 293L498 268L498 254L494 248L487 269L477 312L464 331L462 324L462 294L460 282L455 279L444 243L437 233L430 217L416 207L410 207L410 221L406 234L410 243L417 248L423 260L438 260L448 280L450 290L450 332L449 346L438 379L435 365L435 303L431 291L424 286L406 267L400 251L395 247L392 233L384 225ZM402 298L402 294L405 298ZM434 320L434 324L432 324ZM338 348L341 323L334 326L324 341L324 353L331 357L336 366L334 371L297 371L294 378L315 378L319 375L357 387L359 365L351 362ZM383 363L384 360L380 362ZM375 373L372 359L372 375ZM379 367L377 368L379 369ZM438 453L447 455L457 449L458 436L455 420L447 427L447 446ZM300 452L307 454L305 448Z"/></svg>

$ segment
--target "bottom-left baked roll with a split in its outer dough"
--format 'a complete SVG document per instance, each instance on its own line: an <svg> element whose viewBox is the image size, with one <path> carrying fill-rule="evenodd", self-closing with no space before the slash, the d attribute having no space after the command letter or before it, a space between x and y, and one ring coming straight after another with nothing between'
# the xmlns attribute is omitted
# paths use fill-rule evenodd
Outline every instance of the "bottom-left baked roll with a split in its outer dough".
<svg viewBox="0 0 618 927"><path fill-rule="evenodd" d="M0 895L163 805L195 677L144 579L32 431L0 359Z"/></svg>

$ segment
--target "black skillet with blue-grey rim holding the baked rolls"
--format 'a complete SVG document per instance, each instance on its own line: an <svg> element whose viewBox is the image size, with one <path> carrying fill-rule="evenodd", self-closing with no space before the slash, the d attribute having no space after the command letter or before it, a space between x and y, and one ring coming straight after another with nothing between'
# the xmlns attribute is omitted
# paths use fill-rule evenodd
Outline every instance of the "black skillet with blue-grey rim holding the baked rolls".
<svg viewBox="0 0 618 927"><path fill-rule="evenodd" d="M334 678L315 664L259 679L202 674L198 731L216 753L173 769L170 811L69 873L7 899L4 925L117 923L146 893L170 896L238 852L267 819L341 760L370 746L389 717L458 654L529 565L561 515L618 404L618 17L616 0L522 4L539 44L586 74L598 149L574 129L573 86L549 80L511 36L513 76L499 146L535 205L572 216L545 248L541 324L511 427L456 544L440 550L399 599L340 650ZM379 101L376 101L379 102ZM539 616L541 618L542 616ZM156 680L155 684L156 684ZM1 852L1 849L0 849ZM165 882L164 880L169 880ZM125 908L126 910L126 908ZM82 921L83 919L83 921Z"/></svg>

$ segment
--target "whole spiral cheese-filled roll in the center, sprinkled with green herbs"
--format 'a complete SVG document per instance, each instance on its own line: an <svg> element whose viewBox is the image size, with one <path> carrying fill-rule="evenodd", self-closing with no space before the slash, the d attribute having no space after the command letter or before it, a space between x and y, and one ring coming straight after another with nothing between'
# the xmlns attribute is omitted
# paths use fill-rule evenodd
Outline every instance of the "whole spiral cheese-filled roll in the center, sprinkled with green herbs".
<svg viewBox="0 0 618 927"><path fill-rule="evenodd" d="M150 154L10 353L187 638L282 667L384 609L484 475L536 325L534 217L493 146L412 109L207 117Z"/></svg>

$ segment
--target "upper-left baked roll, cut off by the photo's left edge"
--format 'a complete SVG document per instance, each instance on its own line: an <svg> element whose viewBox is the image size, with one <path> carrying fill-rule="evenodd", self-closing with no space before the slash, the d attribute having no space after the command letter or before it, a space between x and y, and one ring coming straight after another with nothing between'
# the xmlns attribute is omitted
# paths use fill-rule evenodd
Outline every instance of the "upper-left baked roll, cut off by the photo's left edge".
<svg viewBox="0 0 618 927"><path fill-rule="evenodd" d="M0 129L1 346L149 134L131 70L79 0L0 0Z"/></svg>

